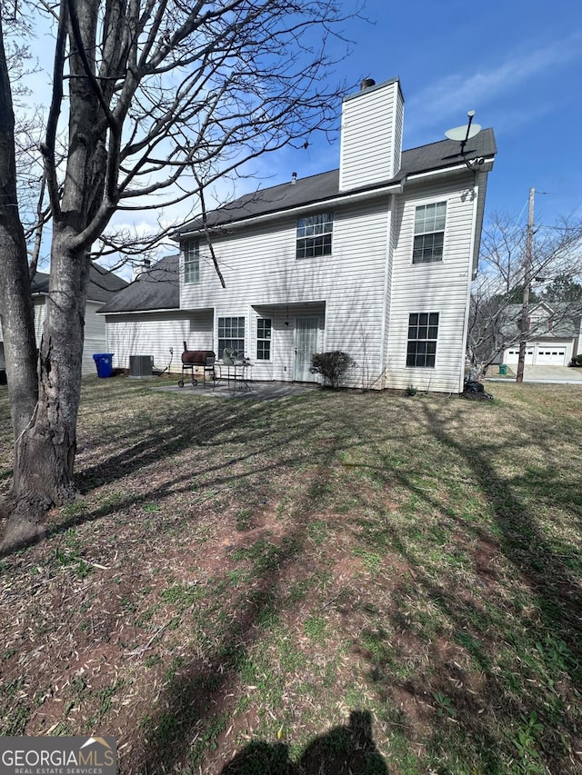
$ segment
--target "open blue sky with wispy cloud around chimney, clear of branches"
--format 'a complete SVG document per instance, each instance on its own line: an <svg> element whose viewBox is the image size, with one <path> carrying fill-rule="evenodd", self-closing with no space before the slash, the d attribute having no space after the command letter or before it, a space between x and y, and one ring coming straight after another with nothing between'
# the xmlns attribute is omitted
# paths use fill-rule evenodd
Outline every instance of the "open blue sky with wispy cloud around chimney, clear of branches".
<svg viewBox="0 0 582 775"><path fill-rule="evenodd" d="M345 0L350 9L351 0ZM497 161L487 213L536 219L582 217L582 3L579 0L366 0L369 23L346 27L352 53L336 68L350 84L398 76L405 97L404 147L433 143L452 126L492 126ZM269 157L264 185L338 166L339 143Z"/></svg>

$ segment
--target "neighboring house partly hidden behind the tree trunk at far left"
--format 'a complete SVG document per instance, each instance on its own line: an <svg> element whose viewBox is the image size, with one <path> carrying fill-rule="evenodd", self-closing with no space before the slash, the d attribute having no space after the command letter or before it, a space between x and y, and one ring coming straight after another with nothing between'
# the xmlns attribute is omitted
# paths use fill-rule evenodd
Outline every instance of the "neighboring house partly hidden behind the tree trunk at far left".
<svg viewBox="0 0 582 775"><path fill-rule="evenodd" d="M35 336L40 343L46 316L48 299L49 275L43 272L35 273L32 283L33 302L35 305ZM89 284L87 287L87 304L85 308L85 346L83 350L83 373L96 374L93 353L106 353L105 321L96 314L99 307L125 288L127 283L121 277L109 272L96 263L91 264ZM0 327L0 369L5 368L4 343L2 327Z"/></svg>

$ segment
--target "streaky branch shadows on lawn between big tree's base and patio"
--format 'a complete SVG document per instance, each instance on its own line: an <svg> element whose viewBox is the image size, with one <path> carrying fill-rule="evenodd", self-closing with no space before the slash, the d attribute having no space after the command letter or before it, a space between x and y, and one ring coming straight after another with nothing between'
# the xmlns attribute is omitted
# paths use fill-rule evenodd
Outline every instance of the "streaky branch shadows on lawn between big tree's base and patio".
<svg viewBox="0 0 582 775"><path fill-rule="evenodd" d="M72 508L64 519L51 525L49 536L66 532L85 522L93 522L112 512L120 512L145 502L159 502L170 492L182 492L192 498L193 482L202 482L201 487L211 492L213 488L233 483L240 487L246 479L257 478L261 474L264 481L268 482L276 472L305 462L329 468L337 452L355 442L345 442L339 438L328 446L317 449L306 447L304 442L310 438L313 430L312 421L306 417L305 412L305 407L310 405L309 401L309 396L297 396L270 402L268 405L251 402L196 402L188 408L187 422L184 404L173 402L166 408L159 422L156 422L156 427L146 432L148 421L143 416L135 418L123 434L118 433L114 442L117 451L109 454L102 462L88 465L81 463L75 482L81 496L92 492L95 487L114 485L124 477L147 471L148 468L152 473L161 474L163 471L164 475L158 477L160 482L143 494L124 494L112 503L107 503L105 499L102 507L90 512L84 509L77 512ZM276 422L272 420L274 412ZM163 432L158 429L163 429ZM132 435L137 441L130 442L128 446L125 440L131 439ZM176 456L182 452L194 456L192 465L179 460L176 462ZM83 450L85 456L89 453L90 449ZM260 462L249 466L251 461L257 460ZM246 471L241 472L241 465L246 465ZM152 482L155 481L152 477ZM193 500L196 501L196 498Z"/></svg>

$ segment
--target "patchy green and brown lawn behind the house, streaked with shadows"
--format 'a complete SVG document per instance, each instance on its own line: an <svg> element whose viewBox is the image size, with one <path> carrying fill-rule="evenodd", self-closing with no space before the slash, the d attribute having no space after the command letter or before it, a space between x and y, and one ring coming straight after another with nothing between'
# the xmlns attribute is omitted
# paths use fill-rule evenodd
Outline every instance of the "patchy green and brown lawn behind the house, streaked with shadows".
<svg viewBox="0 0 582 775"><path fill-rule="evenodd" d="M113 734L127 775L582 772L579 387L151 385L86 381L79 497L0 561L0 734Z"/></svg>

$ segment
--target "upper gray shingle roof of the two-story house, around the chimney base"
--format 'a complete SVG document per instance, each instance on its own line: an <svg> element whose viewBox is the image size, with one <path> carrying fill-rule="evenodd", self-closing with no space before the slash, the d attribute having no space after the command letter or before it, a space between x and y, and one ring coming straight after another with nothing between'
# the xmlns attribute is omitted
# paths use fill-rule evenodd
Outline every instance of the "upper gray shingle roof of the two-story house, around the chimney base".
<svg viewBox="0 0 582 775"><path fill-rule="evenodd" d="M234 202L219 207L207 214L207 226L216 226L243 221L246 218L289 210L302 205L316 204L331 199L340 194L355 194L356 192L374 191L385 185L397 184L408 175L427 172L428 170L446 169L461 162L459 156L460 144L453 140L442 140L438 143L412 148L402 154L400 171L395 177L382 184L365 186L360 189L340 192L339 170L297 178L296 183L284 183L259 189L252 194L245 194ZM495 136L492 129L484 129L467 143L467 159L476 156L492 156L497 153ZM175 233L175 238L203 228L200 218L184 224Z"/></svg>

